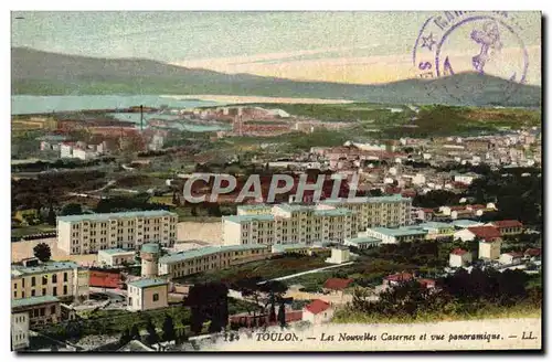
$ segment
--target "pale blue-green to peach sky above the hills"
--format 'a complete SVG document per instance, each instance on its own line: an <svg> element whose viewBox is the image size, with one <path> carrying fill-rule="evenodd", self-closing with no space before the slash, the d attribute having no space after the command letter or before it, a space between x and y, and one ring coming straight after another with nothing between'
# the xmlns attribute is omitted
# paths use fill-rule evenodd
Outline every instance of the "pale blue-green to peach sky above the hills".
<svg viewBox="0 0 552 362"><path fill-rule="evenodd" d="M224 73L376 84L416 76L413 47L426 19L436 14L12 12L12 46L96 57L144 57ZM514 14L517 34L529 54L527 82L540 85L541 14ZM475 28L464 28L453 33L454 43L449 36L445 44L455 64L461 64L460 71L469 70L471 57L481 49L469 38ZM499 72L503 62L519 67L518 44L508 38L503 43L489 70L495 63Z"/></svg>

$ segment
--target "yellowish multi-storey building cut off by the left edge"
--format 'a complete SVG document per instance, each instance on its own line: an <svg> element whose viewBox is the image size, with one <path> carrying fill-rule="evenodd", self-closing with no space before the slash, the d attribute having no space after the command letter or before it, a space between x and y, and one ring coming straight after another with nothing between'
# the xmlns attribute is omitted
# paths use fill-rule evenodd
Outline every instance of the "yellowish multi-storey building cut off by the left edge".
<svg viewBox="0 0 552 362"><path fill-rule="evenodd" d="M11 267L11 299L88 297L88 270L72 262Z"/></svg>

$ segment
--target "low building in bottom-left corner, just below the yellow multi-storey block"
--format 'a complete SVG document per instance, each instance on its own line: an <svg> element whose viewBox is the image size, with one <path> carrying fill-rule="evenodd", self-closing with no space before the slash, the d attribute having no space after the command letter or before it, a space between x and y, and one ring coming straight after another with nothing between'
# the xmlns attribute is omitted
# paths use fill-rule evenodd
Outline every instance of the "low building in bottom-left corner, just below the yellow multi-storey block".
<svg viewBox="0 0 552 362"><path fill-rule="evenodd" d="M60 299L52 296L29 297L11 301L12 315L26 313L29 328L56 323L61 320Z"/></svg>

